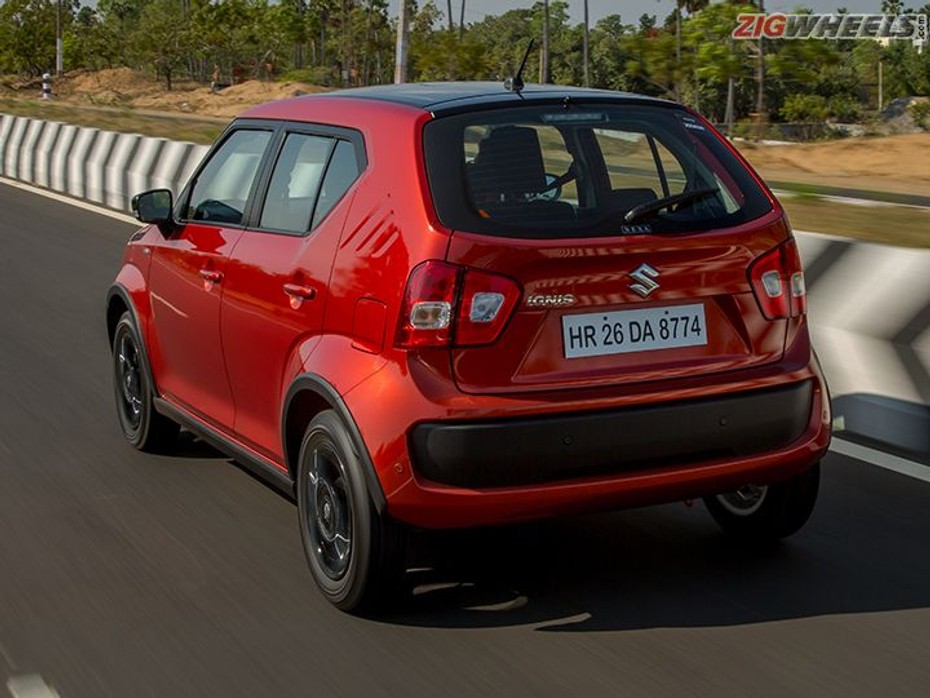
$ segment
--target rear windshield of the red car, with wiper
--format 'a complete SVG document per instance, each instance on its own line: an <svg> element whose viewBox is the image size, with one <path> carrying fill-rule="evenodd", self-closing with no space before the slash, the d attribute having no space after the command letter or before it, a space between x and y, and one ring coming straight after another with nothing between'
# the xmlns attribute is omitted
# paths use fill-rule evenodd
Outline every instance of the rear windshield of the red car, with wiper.
<svg viewBox="0 0 930 698"><path fill-rule="evenodd" d="M454 230L683 233L772 208L726 145L676 107L568 103L441 116L427 124L424 149L439 219Z"/></svg>

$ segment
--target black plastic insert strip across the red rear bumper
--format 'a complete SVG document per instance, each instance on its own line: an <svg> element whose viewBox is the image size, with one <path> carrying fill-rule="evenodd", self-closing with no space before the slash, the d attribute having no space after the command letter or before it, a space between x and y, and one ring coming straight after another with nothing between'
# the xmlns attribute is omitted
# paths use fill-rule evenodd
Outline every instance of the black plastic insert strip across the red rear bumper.
<svg viewBox="0 0 930 698"><path fill-rule="evenodd" d="M810 419L812 381L705 400L464 424L417 425L417 471L457 487L531 485L787 446Z"/></svg>

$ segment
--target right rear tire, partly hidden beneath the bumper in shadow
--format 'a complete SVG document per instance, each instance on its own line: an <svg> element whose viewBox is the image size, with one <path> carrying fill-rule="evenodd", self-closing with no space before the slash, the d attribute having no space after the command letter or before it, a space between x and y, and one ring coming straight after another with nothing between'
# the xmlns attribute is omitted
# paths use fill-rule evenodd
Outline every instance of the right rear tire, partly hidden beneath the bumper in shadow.
<svg viewBox="0 0 930 698"><path fill-rule="evenodd" d="M820 463L790 480L746 487L704 498L711 516L727 533L752 542L774 541L807 523L820 488Z"/></svg>

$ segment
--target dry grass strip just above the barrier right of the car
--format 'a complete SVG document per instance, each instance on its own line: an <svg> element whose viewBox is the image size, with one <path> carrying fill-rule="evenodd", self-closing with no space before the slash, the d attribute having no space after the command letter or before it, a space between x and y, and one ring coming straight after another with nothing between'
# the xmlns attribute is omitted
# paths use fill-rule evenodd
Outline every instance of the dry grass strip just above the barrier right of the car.
<svg viewBox="0 0 930 698"><path fill-rule="evenodd" d="M930 248L930 210L909 206L858 206L814 197L782 197L792 227L817 233Z"/></svg>

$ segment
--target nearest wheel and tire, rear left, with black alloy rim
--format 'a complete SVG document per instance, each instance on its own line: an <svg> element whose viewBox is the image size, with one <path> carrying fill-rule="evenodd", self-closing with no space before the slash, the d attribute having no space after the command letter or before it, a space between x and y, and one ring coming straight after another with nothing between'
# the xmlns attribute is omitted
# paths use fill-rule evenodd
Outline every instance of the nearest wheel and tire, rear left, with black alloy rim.
<svg viewBox="0 0 930 698"><path fill-rule="evenodd" d="M297 512L304 555L323 596L351 613L377 610L399 589L406 536L372 504L352 438L332 410L304 435Z"/></svg>

